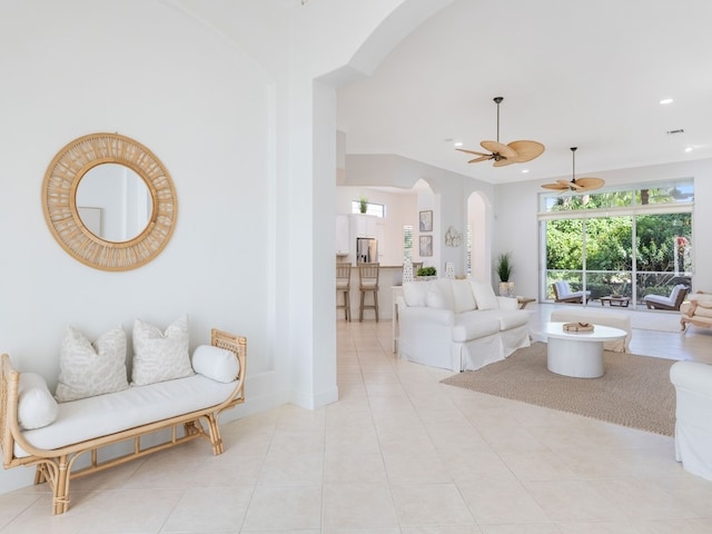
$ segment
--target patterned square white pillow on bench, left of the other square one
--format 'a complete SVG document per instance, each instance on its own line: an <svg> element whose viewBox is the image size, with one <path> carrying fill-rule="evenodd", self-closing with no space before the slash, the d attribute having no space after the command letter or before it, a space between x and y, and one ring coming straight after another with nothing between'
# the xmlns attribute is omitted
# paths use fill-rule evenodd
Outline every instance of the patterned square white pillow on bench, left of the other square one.
<svg viewBox="0 0 712 534"><path fill-rule="evenodd" d="M59 355L57 400L66 403L127 387L126 333L121 325L101 334L93 343L69 326Z"/></svg>

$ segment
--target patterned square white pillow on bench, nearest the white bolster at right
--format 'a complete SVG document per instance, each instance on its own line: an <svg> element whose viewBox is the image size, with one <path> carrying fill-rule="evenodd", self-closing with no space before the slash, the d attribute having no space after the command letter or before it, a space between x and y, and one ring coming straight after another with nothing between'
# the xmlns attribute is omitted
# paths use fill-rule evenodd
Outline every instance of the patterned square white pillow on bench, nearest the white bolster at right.
<svg viewBox="0 0 712 534"><path fill-rule="evenodd" d="M188 316L171 323L166 332L136 319L131 384L146 386L192 375L188 350Z"/></svg>

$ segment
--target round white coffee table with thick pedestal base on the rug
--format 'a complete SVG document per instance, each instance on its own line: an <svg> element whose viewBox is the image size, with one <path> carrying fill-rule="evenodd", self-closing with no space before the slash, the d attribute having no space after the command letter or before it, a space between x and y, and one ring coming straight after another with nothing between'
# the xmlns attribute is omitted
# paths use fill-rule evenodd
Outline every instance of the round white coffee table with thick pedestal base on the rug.
<svg viewBox="0 0 712 534"><path fill-rule="evenodd" d="M544 334L548 370L576 378L603 376L603 342L627 335L620 328L602 325L594 325L593 332L566 332L564 323L547 323Z"/></svg>

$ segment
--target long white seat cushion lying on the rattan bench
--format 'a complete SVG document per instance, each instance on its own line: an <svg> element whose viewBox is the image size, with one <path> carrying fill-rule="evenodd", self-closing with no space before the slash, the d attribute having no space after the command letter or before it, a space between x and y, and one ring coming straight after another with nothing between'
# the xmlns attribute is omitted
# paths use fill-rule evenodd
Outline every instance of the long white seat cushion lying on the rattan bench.
<svg viewBox="0 0 712 534"><path fill-rule="evenodd" d="M122 392L59 404L57 419L49 426L24 431L33 446L52 449L93 437L215 406L235 389L202 375L131 386ZM29 456L17 443L14 454Z"/></svg>

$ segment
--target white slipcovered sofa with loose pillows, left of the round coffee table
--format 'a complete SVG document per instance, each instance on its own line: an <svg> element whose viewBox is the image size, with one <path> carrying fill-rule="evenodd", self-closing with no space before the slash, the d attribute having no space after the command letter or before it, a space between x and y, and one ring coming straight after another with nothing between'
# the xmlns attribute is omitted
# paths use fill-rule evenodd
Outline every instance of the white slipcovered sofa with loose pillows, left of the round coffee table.
<svg viewBox="0 0 712 534"><path fill-rule="evenodd" d="M528 318L516 298L497 297L474 279L406 283L398 298L398 354L432 367L475 370L528 347Z"/></svg>

